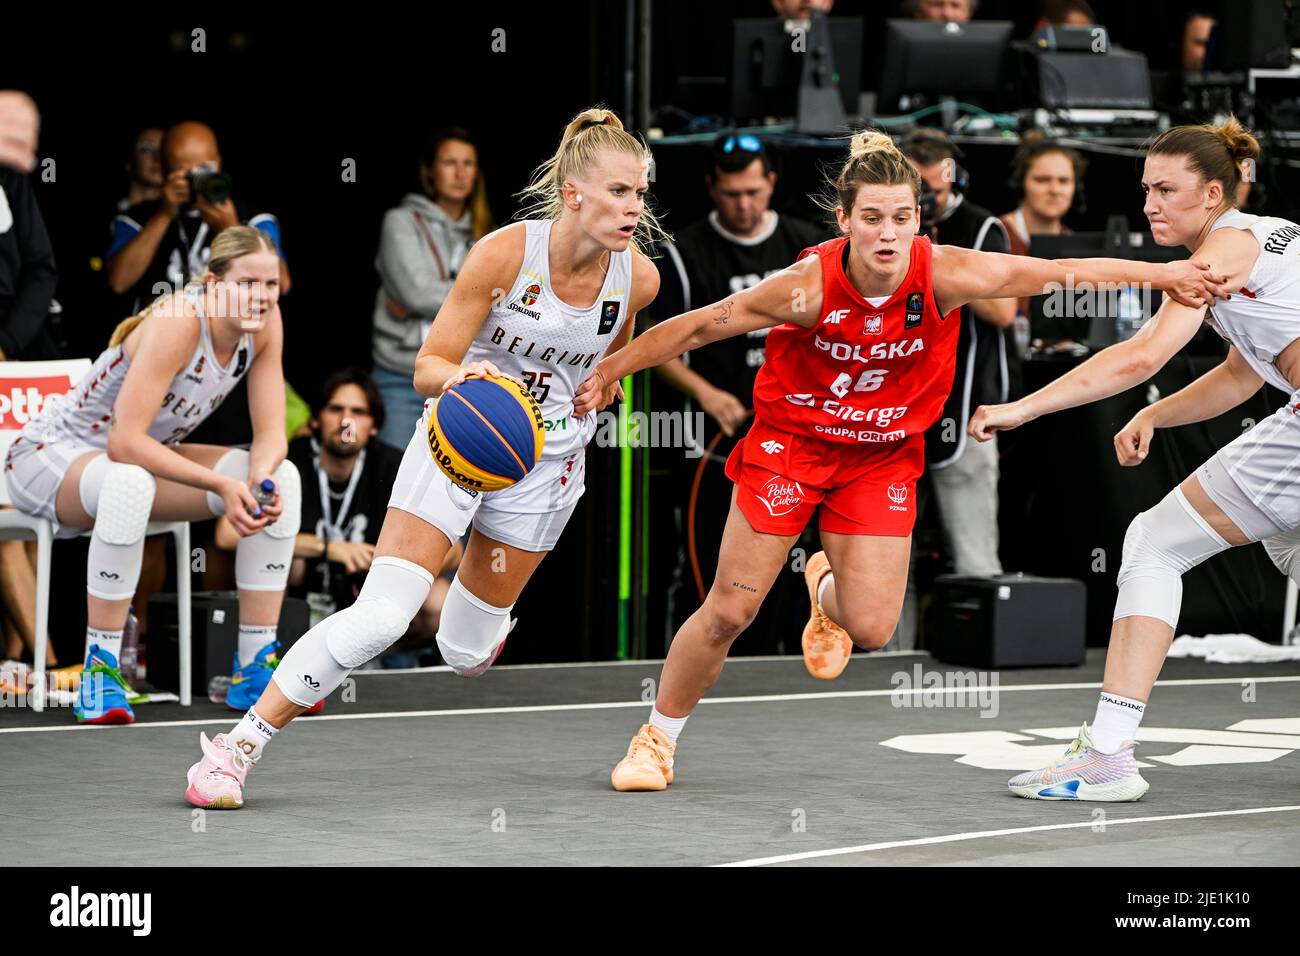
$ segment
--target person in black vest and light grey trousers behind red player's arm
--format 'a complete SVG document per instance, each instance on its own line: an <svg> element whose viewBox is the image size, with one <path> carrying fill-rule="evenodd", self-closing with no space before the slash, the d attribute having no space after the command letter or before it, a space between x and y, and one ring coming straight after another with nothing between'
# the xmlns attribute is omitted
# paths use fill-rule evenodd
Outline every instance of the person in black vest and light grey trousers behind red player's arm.
<svg viewBox="0 0 1300 956"><path fill-rule="evenodd" d="M932 241L984 252L1006 252L1006 229L993 213L970 202L961 156L939 130L916 130L900 143L933 193L922 206L922 228ZM959 575L997 575L997 449L966 437L966 423L980 405L1011 394L1017 363L1011 325L1015 299L985 299L961 311L957 372L942 415L926 432L926 473L939 499L940 518Z"/></svg>

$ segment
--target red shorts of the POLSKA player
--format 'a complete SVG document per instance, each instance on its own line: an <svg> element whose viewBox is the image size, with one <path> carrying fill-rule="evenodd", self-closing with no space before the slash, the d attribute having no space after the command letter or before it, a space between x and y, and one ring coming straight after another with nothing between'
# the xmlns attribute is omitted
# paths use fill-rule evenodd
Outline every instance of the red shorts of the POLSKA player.
<svg viewBox="0 0 1300 956"><path fill-rule="evenodd" d="M755 421L727 459L727 477L754 531L798 535L820 506L822 531L906 537L916 522L916 479L924 467L922 434L849 445Z"/></svg>

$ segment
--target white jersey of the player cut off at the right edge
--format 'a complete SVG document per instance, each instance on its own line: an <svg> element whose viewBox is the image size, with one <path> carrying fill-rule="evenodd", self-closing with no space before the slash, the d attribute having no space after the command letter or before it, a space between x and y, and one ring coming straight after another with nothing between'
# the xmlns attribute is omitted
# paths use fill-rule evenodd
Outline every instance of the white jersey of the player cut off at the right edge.
<svg viewBox="0 0 1300 956"><path fill-rule="evenodd" d="M1278 371L1278 354L1300 338L1300 226L1284 219L1232 209L1216 229L1248 229L1260 242L1251 277L1232 298L1217 299L1205 321L1236 346L1251 368L1286 394L1295 389Z"/></svg>

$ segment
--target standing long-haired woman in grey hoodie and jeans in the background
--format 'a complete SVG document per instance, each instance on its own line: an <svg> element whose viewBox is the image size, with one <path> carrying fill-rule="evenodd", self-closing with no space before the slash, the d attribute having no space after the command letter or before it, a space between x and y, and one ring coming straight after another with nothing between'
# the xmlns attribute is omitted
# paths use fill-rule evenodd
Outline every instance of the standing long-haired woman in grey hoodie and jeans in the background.
<svg viewBox="0 0 1300 956"><path fill-rule="evenodd" d="M415 356L469 247L495 228L478 150L465 130L446 127L425 139L417 183L419 193L385 213L374 259L374 382L389 410L380 438L398 449L424 410L412 382Z"/></svg>

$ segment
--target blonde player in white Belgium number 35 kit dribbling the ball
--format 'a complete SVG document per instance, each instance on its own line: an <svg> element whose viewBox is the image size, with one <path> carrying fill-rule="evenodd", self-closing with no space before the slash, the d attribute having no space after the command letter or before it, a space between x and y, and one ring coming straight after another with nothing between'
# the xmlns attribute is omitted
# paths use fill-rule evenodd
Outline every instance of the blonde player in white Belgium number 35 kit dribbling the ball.
<svg viewBox="0 0 1300 956"><path fill-rule="evenodd" d="M528 382L546 419L542 457L511 488L467 492L433 463L426 401L356 604L299 639L234 730L202 737L190 803L242 806L244 778L272 735L406 632L451 542L471 525L438 649L462 676L482 674L500 653L511 607L584 490L595 416L573 418L573 393L627 343L633 316L659 289L634 239L638 230L656 232L645 209L649 163L645 144L612 112L584 111L523 194L538 217L498 229L469 251L416 358L415 388L432 398L469 376ZM608 389L598 407L616 394L618 386ZM504 562L494 559L502 553Z"/></svg>

